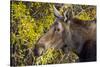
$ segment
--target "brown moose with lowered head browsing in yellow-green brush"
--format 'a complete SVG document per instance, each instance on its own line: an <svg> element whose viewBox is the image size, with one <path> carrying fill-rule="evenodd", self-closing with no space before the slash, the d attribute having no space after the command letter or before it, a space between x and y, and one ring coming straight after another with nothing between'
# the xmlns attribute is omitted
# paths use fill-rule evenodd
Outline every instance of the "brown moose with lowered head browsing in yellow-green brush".
<svg viewBox="0 0 100 67"><path fill-rule="evenodd" d="M39 54L48 48L61 49L65 53L73 50L79 62L96 61L96 19L73 18L70 9L62 15L56 7L54 15L54 24L37 42L43 49Z"/></svg>

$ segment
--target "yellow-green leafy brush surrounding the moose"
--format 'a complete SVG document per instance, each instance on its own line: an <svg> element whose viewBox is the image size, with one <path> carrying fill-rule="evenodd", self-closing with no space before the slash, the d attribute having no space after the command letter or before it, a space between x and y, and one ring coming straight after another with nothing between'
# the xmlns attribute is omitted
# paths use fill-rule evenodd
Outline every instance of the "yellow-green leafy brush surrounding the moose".
<svg viewBox="0 0 100 67"><path fill-rule="evenodd" d="M55 20L54 3L11 1L10 5L10 60L12 66L59 64L77 62L79 57L72 51L69 55L61 50L48 49L42 56L34 55L37 40L46 33ZM63 14L67 7L73 16L82 20L93 20L96 7L91 5L69 5L59 7Z"/></svg>

